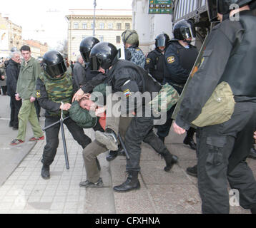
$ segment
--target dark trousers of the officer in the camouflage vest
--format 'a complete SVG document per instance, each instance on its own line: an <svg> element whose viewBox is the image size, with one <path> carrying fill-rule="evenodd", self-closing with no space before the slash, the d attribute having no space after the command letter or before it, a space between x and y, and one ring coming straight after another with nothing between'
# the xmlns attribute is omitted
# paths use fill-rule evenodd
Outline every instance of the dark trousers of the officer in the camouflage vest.
<svg viewBox="0 0 256 228"><path fill-rule="evenodd" d="M46 117L45 126L49 126L52 123L58 121L59 118ZM71 118L64 121L69 132L72 134L74 140L76 140L83 149L92 142L92 140L84 134L84 129L80 128ZM47 129L46 132L46 145L44 146L43 158L41 162L44 165L51 165L56 155L56 150L59 146L59 128L60 123Z"/></svg>

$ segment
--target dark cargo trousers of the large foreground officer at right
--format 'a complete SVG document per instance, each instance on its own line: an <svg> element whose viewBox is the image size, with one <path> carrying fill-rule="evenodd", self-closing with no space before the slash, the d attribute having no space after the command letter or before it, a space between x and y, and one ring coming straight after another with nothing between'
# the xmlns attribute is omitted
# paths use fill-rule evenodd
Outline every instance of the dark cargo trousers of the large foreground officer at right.
<svg viewBox="0 0 256 228"><path fill-rule="evenodd" d="M256 103L236 103L232 118L197 130L198 188L203 213L230 211L227 181L239 190L240 205L256 206L256 182L245 159L256 125Z"/></svg>

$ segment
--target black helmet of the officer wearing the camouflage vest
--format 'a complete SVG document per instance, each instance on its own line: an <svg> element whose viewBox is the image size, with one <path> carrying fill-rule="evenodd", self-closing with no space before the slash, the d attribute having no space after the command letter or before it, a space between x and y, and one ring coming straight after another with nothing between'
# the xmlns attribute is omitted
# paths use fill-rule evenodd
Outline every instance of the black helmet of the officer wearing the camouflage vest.
<svg viewBox="0 0 256 228"><path fill-rule="evenodd" d="M51 78L62 75L67 71L64 58L59 51L47 51L44 54L42 66L44 72Z"/></svg>

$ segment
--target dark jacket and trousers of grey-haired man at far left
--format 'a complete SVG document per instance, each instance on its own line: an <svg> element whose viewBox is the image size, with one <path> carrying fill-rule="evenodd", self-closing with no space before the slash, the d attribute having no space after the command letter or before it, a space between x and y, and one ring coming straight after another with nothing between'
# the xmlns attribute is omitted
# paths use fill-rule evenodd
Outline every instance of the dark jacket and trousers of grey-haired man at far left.
<svg viewBox="0 0 256 228"><path fill-rule="evenodd" d="M20 64L16 63L12 59L9 60L9 64L6 66L6 86L7 95L10 96L10 106L11 106L11 120L9 125L14 128L19 128L18 114L21 108L21 100L15 99L16 86L19 77Z"/></svg>

